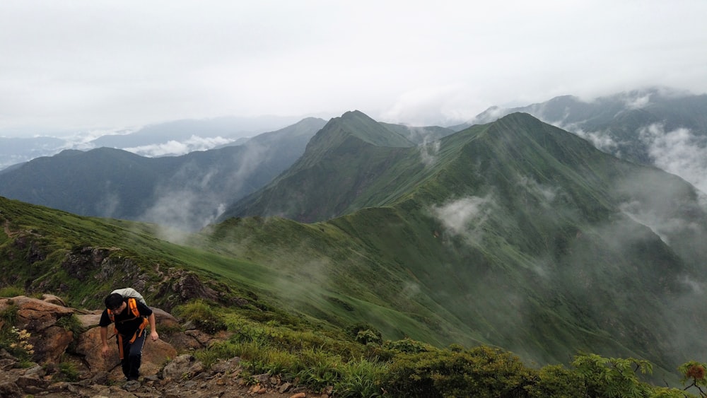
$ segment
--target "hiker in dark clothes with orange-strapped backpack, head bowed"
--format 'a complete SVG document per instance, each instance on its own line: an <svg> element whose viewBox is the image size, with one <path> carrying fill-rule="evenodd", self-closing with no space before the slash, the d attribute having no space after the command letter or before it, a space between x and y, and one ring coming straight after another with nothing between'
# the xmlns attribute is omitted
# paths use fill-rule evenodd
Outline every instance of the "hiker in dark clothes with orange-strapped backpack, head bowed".
<svg viewBox="0 0 707 398"><path fill-rule="evenodd" d="M108 347L108 325L115 324L115 336L123 374L128 381L138 380L142 346L145 344L145 327L150 324L152 341L160 338L157 334L155 314L144 301L124 297L120 293L110 293L105 298L105 310L100 315L100 341L103 343L101 355L110 351Z"/></svg>

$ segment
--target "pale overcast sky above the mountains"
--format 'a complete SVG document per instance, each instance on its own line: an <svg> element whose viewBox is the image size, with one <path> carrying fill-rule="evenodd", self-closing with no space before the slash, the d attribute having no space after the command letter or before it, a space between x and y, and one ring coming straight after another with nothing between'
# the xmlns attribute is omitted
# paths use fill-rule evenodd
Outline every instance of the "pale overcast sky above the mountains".
<svg viewBox="0 0 707 398"><path fill-rule="evenodd" d="M0 2L0 136L707 92L707 1Z"/></svg>

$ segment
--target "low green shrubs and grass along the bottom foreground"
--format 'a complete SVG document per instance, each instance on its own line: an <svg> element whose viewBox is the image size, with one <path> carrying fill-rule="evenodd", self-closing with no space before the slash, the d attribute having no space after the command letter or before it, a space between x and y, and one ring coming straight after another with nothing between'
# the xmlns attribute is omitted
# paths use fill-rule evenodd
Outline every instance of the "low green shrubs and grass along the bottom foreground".
<svg viewBox="0 0 707 398"><path fill-rule="evenodd" d="M189 309L216 317L211 322L230 333L194 353L204 365L238 356L245 377L267 373L314 391L332 387L337 397L707 397L707 364L696 361L677 369L682 384L660 386L649 381L653 365L637 358L578 353L568 365L530 367L492 346L381 340L365 325L344 331L260 322L204 301L178 311Z"/></svg>

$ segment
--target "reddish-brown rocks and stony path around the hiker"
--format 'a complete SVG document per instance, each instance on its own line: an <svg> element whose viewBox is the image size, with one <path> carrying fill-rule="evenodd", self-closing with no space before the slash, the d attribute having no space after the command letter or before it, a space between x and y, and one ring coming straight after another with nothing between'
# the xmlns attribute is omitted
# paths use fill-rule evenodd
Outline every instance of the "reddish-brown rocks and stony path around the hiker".
<svg viewBox="0 0 707 398"><path fill-rule="evenodd" d="M332 389L312 392L270 375L243 377L240 358L217 361L211 367L197 361L189 351L208 346L226 335L212 336L188 324L181 325L167 312L153 308L160 332L158 341L146 341L141 377L124 380L115 355L100 355L98 320L100 311L69 308L54 295L42 299L18 296L0 298L0 313L13 307L16 320L11 327L30 359L0 349L0 397L333 397ZM62 319L76 315L80 335L62 327ZM5 325L0 320L0 328ZM110 330L110 328L109 328ZM111 332L112 333L112 332ZM113 346L113 344L110 344ZM71 364L75 381L67 381L62 366Z"/></svg>

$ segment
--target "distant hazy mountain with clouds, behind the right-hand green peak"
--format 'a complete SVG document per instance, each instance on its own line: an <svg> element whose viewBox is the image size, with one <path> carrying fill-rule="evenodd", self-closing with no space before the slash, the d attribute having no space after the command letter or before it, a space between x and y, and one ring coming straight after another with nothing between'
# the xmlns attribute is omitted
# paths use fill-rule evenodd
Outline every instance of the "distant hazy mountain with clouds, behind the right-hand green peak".
<svg viewBox="0 0 707 398"><path fill-rule="evenodd" d="M674 131L691 135L695 148L707 137L707 95L692 95L670 88L647 88L594 100L572 95L515 108L491 107L466 124L488 123L513 112L527 112L592 141L602 151L647 165L660 162L661 138ZM679 143L674 143L677 145ZM669 170L677 172L677 170ZM682 175L682 173L677 172Z"/></svg>

